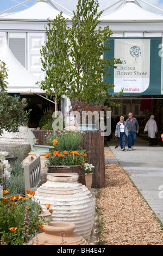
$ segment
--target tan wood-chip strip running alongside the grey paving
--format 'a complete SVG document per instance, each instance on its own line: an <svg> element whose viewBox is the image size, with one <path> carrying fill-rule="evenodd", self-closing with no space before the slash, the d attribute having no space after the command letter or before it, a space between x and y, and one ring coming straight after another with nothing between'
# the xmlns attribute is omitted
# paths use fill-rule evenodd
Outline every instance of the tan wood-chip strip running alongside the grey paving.
<svg viewBox="0 0 163 256"><path fill-rule="evenodd" d="M163 245L161 223L121 165L106 164L105 172L106 186L97 200L104 245Z"/></svg>

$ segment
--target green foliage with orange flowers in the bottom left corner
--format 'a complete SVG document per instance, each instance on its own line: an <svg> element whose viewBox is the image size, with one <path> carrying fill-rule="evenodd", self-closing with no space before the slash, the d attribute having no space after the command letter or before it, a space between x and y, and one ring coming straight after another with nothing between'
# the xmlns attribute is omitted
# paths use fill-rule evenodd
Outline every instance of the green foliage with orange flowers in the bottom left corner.
<svg viewBox="0 0 163 256"><path fill-rule="evenodd" d="M0 240L7 245L23 245L29 236L40 231L40 205L32 199L23 200L20 195L8 196L0 199ZM10 228L17 228L11 231Z"/></svg>

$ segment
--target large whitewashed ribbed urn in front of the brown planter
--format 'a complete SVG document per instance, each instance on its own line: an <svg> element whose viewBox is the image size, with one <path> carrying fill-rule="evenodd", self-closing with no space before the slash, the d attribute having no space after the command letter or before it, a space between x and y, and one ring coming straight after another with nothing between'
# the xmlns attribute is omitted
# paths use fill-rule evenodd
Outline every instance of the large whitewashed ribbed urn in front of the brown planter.
<svg viewBox="0 0 163 256"><path fill-rule="evenodd" d="M78 182L77 173L47 175L47 181L37 188L34 199L42 210L46 204L53 209L53 221L72 222L75 232L88 239L95 217L95 203L91 192Z"/></svg>

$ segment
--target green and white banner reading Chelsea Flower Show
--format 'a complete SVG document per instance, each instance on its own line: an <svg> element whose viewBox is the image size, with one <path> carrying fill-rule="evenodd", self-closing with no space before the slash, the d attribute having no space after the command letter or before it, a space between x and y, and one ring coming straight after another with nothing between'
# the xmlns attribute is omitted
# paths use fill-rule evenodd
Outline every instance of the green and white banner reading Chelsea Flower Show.
<svg viewBox="0 0 163 256"><path fill-rule="evenodd" d="M157 39L157 40L156 40ZM159 56L161 38L111 38L110 54L120 58L121 64L116 69L109 69L112 76L106 81L114 84L111 94L153 95L161 94L161 57Z"/></svg>

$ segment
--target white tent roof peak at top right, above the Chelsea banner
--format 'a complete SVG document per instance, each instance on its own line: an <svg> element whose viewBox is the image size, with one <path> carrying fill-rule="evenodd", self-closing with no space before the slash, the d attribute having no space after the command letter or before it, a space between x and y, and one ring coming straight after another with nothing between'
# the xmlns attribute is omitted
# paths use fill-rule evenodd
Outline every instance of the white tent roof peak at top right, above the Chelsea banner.
<svg viewBox="0 0 163 256"><path fill-rule="evenodd" d="M126 0L117 10L102 15L100 21L163 21L163 15L147 11L135 1Z"/></svg>

